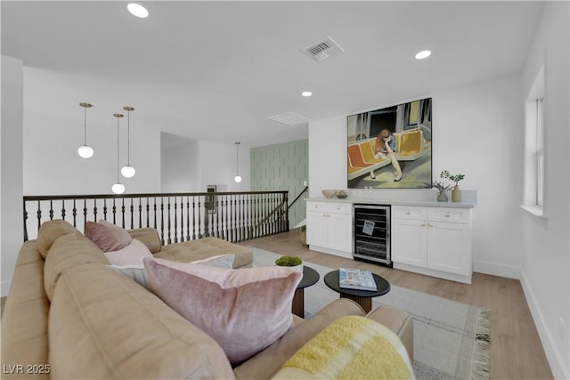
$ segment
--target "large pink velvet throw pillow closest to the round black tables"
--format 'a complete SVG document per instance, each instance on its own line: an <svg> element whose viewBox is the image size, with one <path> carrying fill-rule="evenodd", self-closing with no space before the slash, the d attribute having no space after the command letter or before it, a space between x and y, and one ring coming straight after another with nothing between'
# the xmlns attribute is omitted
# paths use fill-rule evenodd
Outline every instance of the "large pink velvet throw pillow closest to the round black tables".
<svg viewBox="0 0 570 380"><path fill-rule="evenodd" d="M291 304L302 274L286 267L239 270L144 259L152 291L213 337L232 363L262 351L293 322ZM178 267L178 268L175 268Z"/></svg>

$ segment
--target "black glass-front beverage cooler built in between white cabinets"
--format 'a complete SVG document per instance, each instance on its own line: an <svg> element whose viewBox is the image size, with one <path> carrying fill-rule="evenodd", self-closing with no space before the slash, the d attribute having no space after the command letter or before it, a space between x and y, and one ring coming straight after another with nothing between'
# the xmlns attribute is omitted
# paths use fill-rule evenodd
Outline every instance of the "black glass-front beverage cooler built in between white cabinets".
<svg viewBox="0 0 570 380"><path fill-rule="evenodd" d="M354 258L392 267L390 206L354 206Z"/></svg>

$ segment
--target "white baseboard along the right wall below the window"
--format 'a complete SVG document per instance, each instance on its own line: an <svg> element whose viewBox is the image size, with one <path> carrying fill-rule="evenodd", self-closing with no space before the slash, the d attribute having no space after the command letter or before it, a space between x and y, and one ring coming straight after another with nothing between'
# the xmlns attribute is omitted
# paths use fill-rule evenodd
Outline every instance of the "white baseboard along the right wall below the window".
<svg viewBox="0 0 570 380"><path fill-rule="evenodd" d="M564 360L560 357L560 352L556 349L556 345L553 344L552 336L546 328L547 325L542 316L541 309L538 307L538 303L536 303L536 297L533 294L532 288L529 287L525 271L523 270L520 271L520 283L525 293L526 303L528 303L528 307L533 315L534 325L538 330L538 335L541 337L542 348L546 353L546 358L549 360L552 375L555 379L570 378L570 373L564 368Z"/></svg>

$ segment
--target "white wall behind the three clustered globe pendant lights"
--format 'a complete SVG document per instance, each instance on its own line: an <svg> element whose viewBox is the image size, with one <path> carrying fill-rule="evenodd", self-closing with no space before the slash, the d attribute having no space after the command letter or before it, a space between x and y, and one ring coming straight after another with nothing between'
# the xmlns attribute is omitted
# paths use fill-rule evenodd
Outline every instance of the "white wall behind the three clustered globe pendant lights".
<svg viewBox="0 0 570 380"><path fill-rule="evenodd" d="M105 93L93 89L96 78L62 75L24 67L24 194L111 194L117 182L117 118L120 120L120 166L126 165L126 111L131 112L130 163L133 178L120 177L126 193L159 192L160 138L145 120L145 110L129 104L110 104ZM94 156L80 158L83 144L84 109L87 109L87 143Z"/></svg>

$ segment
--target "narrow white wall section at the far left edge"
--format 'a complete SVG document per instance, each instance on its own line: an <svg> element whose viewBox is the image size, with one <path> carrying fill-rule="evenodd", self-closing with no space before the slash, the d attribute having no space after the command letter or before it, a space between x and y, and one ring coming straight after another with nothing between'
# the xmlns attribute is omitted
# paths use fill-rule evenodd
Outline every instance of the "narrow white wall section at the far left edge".
<svg viewBox="0 0 570 380"><path fill-rule="evenodd" d="M22 62L2 56L2 129L0 130L1 295L8 294L22 238Z"/></svg>

